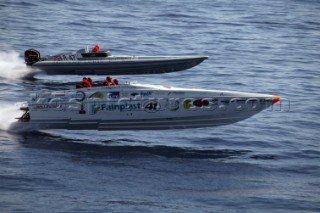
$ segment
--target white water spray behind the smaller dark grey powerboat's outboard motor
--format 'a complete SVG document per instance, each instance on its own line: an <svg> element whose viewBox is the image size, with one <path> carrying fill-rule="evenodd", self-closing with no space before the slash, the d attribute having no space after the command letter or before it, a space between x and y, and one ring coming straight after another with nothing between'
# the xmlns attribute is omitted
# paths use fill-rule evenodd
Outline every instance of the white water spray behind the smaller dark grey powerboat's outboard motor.
<svg viewBox="0 0 320 213"><path fill-rule="evenodd" d="M0 77L7 79L18 79L30 77L34 73L28 68L24 60L15 51L0 51Z"/></svg>

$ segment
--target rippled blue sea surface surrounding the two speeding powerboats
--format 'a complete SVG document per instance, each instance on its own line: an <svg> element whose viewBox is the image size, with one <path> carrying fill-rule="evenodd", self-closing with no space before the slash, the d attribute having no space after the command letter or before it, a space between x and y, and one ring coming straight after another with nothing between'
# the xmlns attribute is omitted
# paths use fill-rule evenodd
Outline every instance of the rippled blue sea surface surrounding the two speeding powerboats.
<svg viewBox="0 0 320 213"><path fill-rule="evenodd" d="M320 1L1 0L0 14L1 213L320 212ZM214 128L9 131L18 102L82 78L23 79L24 51L94 44L114 55L209 56L122 82L282 101Z"/></svg>

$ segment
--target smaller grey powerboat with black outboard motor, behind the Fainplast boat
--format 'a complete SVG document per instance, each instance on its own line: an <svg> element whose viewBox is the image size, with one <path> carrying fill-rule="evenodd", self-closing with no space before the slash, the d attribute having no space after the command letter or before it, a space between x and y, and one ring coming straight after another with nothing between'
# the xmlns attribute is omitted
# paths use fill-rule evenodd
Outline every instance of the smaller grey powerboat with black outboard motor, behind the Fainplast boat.
<svg viewBox="0 0 320 213"><path fill-rule="evenodd" d="M59 53L41 58L40 52L28 49L25 62L34 70L48 75L132 75L176 72L189 69L207 59L207 56L113 56L96 45L74 53Z"/></svg>

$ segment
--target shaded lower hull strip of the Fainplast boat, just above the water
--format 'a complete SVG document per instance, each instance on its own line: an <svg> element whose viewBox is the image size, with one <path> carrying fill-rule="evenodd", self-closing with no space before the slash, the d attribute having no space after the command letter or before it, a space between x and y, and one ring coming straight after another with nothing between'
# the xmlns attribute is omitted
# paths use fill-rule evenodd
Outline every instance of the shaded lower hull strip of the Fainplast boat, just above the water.
<svg viewBox="0 0 320 213"><path fill-rule="evenodd" d="M162 119L135 119L135 120L31 120L29 122L18 122L15 128L25 129L67 129L67 130L168 130L168 129L189 129L203 128L233 124L247 119L254 115L224 115L202 116L202 117L183 117L183 118L162 118Z"/></svg>

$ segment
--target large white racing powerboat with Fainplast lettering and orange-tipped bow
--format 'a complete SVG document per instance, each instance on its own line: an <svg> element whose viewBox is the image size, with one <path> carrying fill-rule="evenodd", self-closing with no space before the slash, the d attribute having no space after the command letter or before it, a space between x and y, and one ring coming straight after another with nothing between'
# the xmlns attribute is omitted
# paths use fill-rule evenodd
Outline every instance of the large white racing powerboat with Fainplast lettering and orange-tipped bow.
<svg viewBox="0 0 320 213"><path fill-rule="evenodd" d="M272 106L279 96L123 84L39 91L12 128L162 130L235 123Z"/></svg>

